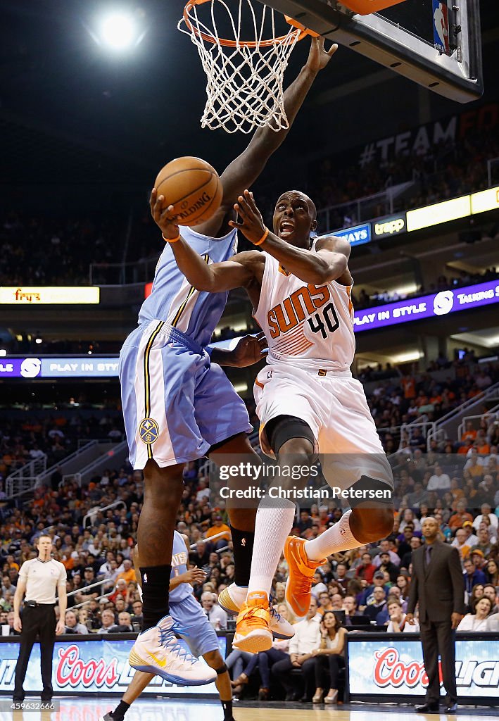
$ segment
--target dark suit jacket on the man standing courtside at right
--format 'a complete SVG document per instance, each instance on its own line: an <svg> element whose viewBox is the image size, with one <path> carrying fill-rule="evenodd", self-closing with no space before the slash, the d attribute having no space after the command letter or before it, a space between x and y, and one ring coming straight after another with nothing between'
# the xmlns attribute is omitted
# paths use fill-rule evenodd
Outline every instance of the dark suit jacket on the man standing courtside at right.
<svg viewBox="0 0 499 721"><path fill-rule="evenodd" d="M420 620L449 621L454 612L464 614L464 579L457 549L435 541L431 562L425 563L422 547L412 551L412 580L407 613L419 603Z"/></svg>

